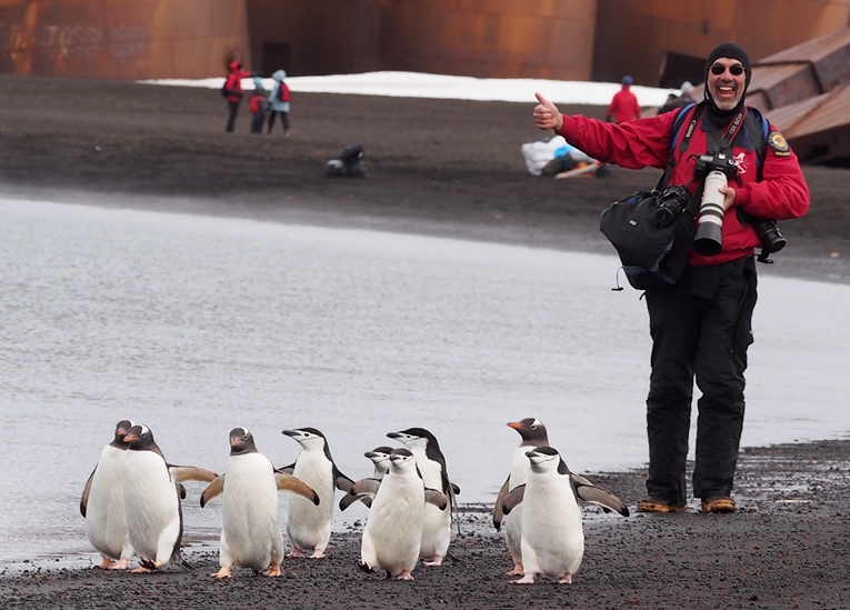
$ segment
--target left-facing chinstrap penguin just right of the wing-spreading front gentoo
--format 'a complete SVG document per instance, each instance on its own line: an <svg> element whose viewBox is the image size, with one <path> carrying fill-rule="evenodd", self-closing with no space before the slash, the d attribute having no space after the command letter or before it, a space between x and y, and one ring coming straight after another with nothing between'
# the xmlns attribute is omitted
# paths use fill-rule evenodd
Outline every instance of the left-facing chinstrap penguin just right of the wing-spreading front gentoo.
<svg viewBox="0 0 850 610"><path fill-rule="evenodd" d="M354 481L339 471L324 434L316 428L283 430L282 433L301 444L301 453L293 464L281 470L298 477L319 494L318 506L300 496L289 499L287 537L292 550L287 557L304 557L309 552L311 559L321 559L330 540L334 488L348 492Z"/></svg>

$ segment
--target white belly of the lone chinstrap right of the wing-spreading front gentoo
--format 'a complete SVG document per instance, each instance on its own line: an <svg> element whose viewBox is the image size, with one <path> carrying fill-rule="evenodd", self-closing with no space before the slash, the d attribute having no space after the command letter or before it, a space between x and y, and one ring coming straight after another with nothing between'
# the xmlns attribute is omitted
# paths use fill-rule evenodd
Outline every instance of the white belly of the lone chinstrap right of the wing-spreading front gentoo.
<svg viewBox="0 0 850 610"><path fill-rule="evenodd" d="M316 490L319 506L302 496L290 494L287 500L287 537L301 551L321 553L328 547L333 519L333 464L323 453L311 453L301 452L292 474Z"/></svg>

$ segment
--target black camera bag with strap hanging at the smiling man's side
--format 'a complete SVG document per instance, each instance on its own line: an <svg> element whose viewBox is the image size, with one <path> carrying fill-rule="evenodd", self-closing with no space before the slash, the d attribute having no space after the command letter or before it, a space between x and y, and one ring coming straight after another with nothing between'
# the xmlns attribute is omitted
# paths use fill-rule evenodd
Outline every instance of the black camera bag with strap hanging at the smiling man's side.
<svg viewBox="0 0 850 610"><path fill-rule="evenodd" d="M702 106L697 106L683 144L690 140L696 128ZM681 112L670 130L673 141L681 128L687 112ZM679 281L688 263L693 236L697 232L694 221L699 210L702 188L697 189L688 206L676 222L661 227L656 220L656 212L667 183L667 174L673 161L673 147L670 147L667 168L658 186L650 192L638 191L624 199L614 201L602 210L599 230L617 250L622 263L622 270L632 288L651 290L660 286L671 286Z"/></svg>

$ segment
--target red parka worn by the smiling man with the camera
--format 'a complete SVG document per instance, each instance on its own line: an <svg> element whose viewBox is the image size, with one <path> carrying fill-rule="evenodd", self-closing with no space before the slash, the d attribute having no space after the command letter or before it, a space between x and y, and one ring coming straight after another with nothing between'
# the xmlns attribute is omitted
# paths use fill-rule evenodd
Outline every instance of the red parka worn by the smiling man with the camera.
<svg viewBox="0 0 850 610"><path fill-rule="evenodd" d="M684 121L687 127L693 110ZM670 152L670 130L679 112L666 112L658 117L638 119L622 124L607 123L581 116L563 116L563 127L557 133L590 157L628 169L667 167ZM744 128L746 129L746 128ZM741 219L737 210L768 220L799 218L809 210L809 188L797 156L784 138L771 124L768 136L762 179L757 181L758 157L742 133L732 146L740 183L729 180L736 190L734 206L723 216L723 243L720 253L704 257L691 250L692 266L719 264L754 253L761 246L751 222ZM698 154L708 150L708 131L704 116L693 130L688 150L682 154L674 148L670 184L689 186L693 192L693 167Z"/></svg>

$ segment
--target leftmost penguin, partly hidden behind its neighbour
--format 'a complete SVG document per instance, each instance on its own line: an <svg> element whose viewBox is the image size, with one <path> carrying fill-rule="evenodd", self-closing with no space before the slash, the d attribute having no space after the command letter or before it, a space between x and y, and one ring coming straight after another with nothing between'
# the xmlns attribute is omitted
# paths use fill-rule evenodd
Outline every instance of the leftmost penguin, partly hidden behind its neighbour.
<svg viewBox="0 0 850 610"><path fill-rule="evenodd" d="M124 517L124 437L133 422L121 420L112 442L100 452L94 470L86 481L80 512L86 518L86 538L103 558L99 568L124 570L133 556Z"/></svg>

